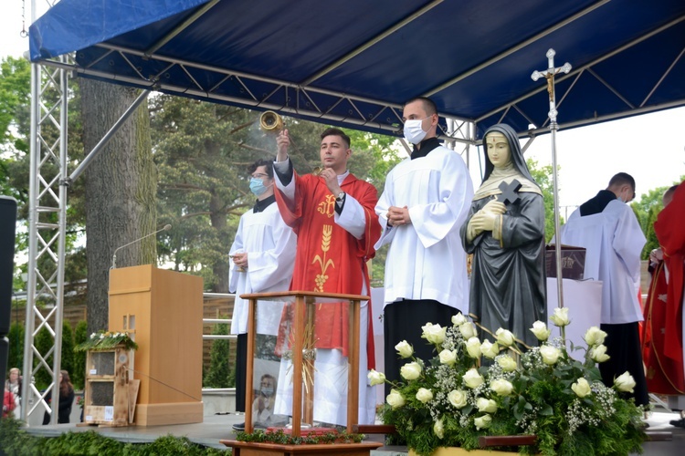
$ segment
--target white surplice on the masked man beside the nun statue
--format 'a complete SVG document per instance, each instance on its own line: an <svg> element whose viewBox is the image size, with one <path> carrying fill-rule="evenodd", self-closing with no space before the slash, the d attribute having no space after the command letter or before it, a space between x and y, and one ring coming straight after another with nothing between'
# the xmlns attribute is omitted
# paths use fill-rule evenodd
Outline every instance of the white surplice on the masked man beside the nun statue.
<svg viewBox="0 0 685 456"><path fill-rule="evenodd" d="M466 164L445 147L401 161L388 173L375 207L383 227L375 248L391 243L385 261L386 305L401 298L434 299L469 313L467 255L459 228L472 199ZM390 206L406 206L411 223L388 226Z"/></svg>

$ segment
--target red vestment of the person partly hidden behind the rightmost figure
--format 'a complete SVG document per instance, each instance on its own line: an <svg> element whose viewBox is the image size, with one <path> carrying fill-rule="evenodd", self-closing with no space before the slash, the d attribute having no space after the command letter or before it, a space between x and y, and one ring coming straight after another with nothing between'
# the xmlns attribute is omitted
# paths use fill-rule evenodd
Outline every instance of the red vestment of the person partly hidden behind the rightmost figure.
<svg viewBox="0 0 685 456"><path fill-rule="evenodd" d="M642 330L642 360L647 369L647 388L658 394L685 394L682 358L663 356L666 345L664 326L667 311L666 272L663 262L652 271Z"/></svg>

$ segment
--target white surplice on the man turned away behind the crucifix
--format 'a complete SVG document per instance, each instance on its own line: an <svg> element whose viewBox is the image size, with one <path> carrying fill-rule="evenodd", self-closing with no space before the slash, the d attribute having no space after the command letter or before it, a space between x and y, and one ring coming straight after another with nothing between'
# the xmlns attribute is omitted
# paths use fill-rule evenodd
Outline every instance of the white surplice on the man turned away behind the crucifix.
<svg viewBox="0 0 685 456"><path fill-rule="evenodd" d="M584 217L576 209L564 224L562 244L586 249L584 277L603 282L602 323L642 321L638 285L640 254L646 242L635 213L618 200Z"/></svg>

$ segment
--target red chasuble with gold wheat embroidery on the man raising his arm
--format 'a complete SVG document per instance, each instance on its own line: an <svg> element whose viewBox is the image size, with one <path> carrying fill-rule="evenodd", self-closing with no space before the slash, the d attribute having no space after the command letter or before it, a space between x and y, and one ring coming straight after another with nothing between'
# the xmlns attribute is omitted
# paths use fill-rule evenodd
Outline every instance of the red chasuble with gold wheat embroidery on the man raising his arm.
<svg viewBox="0 0 685 456"><path fill-rule="evenodd" d="M360 181L353 174L348 175L341 184L342 191L364 207L364 236L358 240L335 223L335 195L321 177L294 173L293 179L294 202L289 204L282 193L276 191L276 202L283 221L298 235L290 290L361 295L365 283L370 294L366 261L374 257L374 244L381 235L378 216L374 212L378 202L375 187ZM348 209L348 203L349 200L345 202L343 212ZM374 368L371 302L366 307L369 315L366 347L368 368ZM347 356L347 306L317 306L315 331L316 347L337 348L342 350L343 356ZM281 341L283 336L279 334Z"/></svg>

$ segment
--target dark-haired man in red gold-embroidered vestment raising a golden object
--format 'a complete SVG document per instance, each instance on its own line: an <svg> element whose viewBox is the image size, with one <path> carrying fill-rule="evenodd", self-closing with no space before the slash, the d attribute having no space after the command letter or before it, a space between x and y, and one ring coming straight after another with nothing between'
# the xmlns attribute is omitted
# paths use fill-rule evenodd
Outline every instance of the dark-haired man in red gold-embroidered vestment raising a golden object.
<svg viewBox="0 0 685 456"><path fill-rule="evenodd" d="M373 185L347 170L352 155L350 138L338 129L321 133L322 171L318 175L300 176L293 170L289 145L288 130L283 130L277 139L274 171L279 211L298 235L290 290L368 295L366 262L374 257L374 244L380 236L374 212L378 193ZM374 422L375 395L371 387L366 387L366 372L374 368L371 316L371 304L364 303L360 327L360 424ZM346 305L317 306L314 420L346 423L347 322ZM337 372L334 378L325 378L324 366L328 372ZM290 384L287 378L282 380L279 389Z"/></svg>

